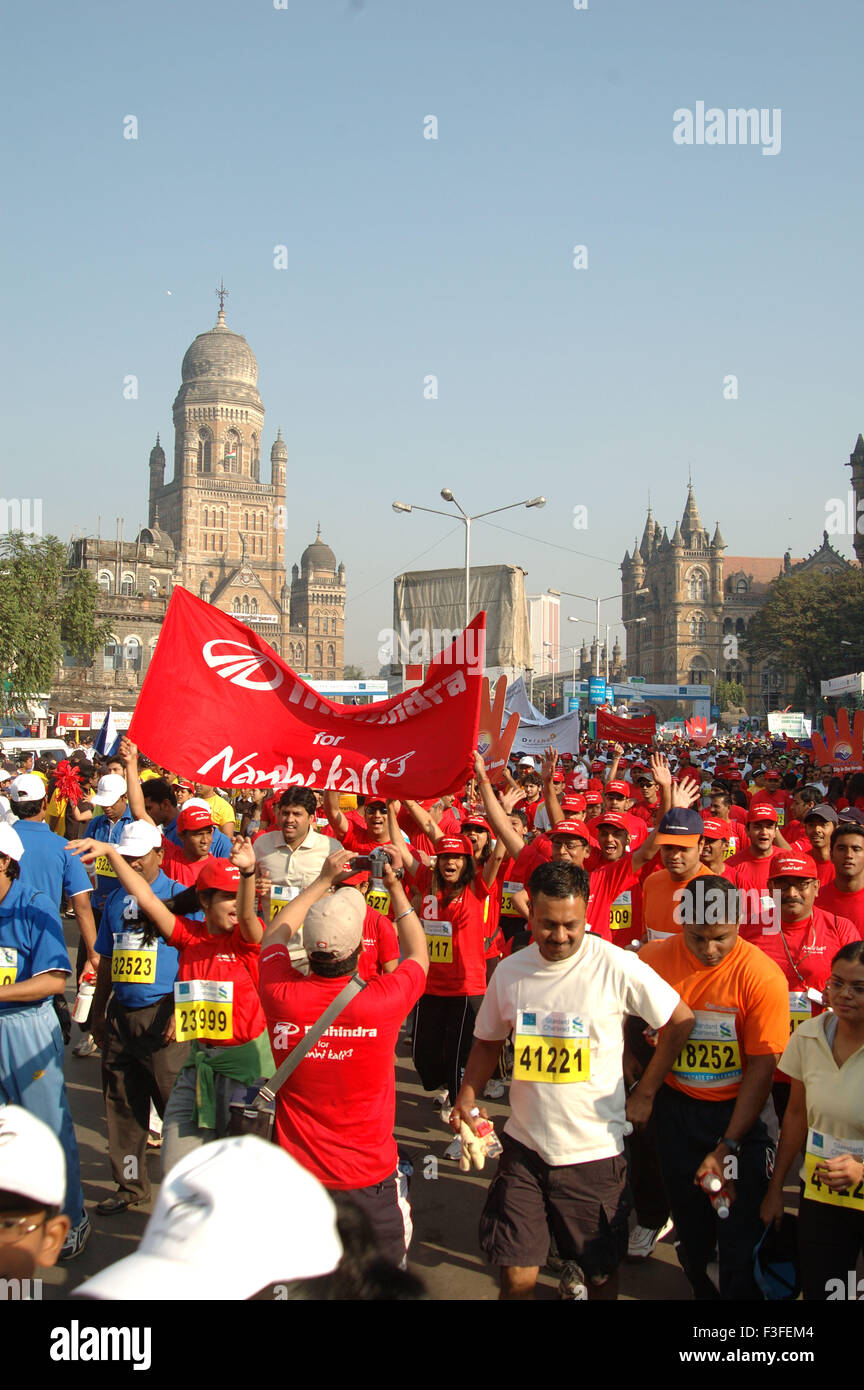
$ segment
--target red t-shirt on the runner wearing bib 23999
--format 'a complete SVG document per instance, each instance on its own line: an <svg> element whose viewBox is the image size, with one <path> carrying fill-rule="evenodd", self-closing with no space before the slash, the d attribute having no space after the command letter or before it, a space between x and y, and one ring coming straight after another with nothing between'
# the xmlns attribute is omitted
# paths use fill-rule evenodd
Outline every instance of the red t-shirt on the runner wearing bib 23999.
<svg viewBox="0 0 864 1390"><path fill-rule="evenodd" d="M264 923L261 923L264 926ZM208 1041L211 1047L239 1047L261 1037L267 1023L258 999L258 952L257 941L246 941L240 929L219 931L211 935L203 922L189 917L175 917L174 931L168 945L181 956L178 984L189 980L211 980L232 984L231 1038ZM175 999L182 1002L182 990L175 990Z"/></svg>

